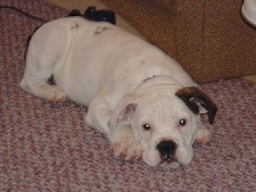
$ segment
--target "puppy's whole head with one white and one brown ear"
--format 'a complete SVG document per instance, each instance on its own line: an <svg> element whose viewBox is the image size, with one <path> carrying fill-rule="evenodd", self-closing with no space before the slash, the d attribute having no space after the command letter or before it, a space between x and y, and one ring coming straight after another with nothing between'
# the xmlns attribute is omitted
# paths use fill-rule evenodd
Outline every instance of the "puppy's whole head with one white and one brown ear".
<svg viewBox="0 0 256 192"><path fill-rule="evenodd" d="M197 118L208 113L212 124L217 106L196 87L149 88L127 96L116 110L115 123L129 124L149 166L163 162L189 164Z"/></svg>

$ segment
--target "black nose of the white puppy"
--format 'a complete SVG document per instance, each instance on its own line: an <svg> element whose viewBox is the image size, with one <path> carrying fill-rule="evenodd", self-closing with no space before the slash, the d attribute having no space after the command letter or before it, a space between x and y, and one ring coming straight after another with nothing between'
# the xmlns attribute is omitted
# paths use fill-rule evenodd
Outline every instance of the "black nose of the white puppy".
<svg viewBox="0 0 256 192"><path fill-rule="evenodd" d="M173 141L162 141L157 145L160 155L163 158L171 158L175 154L177 145Z"/></svg>

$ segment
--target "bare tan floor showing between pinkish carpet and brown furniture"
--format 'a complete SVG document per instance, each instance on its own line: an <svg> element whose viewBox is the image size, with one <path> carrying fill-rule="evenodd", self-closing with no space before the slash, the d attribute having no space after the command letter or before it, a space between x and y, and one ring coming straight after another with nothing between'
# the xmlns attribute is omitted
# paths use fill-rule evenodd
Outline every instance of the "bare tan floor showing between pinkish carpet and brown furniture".
<svg viewBox="0 0 256 192"><path fill-rule="evenodd" d="M105 4L102 3L102 1L99 0L72 0L72 1L67 1L67 0L47 0L53 4L58 5L59 7L64 7L65 9L80 9L80 12L84 12L87 7L93 5L97 7L97 9L106 9ZM117 20L117 26L121 26L122 28L127 29L128 31L132 32L133 34L136 34L144 39L142 34L138 30L136 30L134 27L132 27L124 18L121 18L119 15L116 15L116 20ZM256 64L255 64L256 65ZM255 66L256 67L256 66ZM256 82L256 74L252 76L246 76L242 77L245 80L249 80L252 82Z"/></svg>

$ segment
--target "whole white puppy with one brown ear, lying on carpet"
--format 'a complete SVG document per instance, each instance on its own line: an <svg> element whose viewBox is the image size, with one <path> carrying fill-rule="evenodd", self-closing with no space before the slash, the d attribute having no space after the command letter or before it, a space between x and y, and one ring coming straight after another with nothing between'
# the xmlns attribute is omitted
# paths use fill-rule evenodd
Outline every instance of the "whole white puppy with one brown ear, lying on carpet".
<svg viewBox="0 0 256 192"><path fill-rule="evenodd" d="M53 75L56 85L49 85ZM159 48L106 22L59 18L29 43L21 87L52 102L89 106L86 123L105 134L113 153L149 166L192 161L194 142L211 134L217 105Z"/></svg>

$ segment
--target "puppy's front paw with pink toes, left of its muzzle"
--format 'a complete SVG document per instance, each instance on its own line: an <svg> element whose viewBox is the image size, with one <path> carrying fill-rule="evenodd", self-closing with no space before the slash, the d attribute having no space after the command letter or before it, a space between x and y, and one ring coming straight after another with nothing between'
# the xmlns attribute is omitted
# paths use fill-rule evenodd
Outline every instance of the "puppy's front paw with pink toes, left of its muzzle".
<svg viewBox="0 0 256 192"><path fill-rule="evenodd" d="M138 159L142 156L140 144L131 136L113 139L111 148L116 156L126 160Z"/></svg>

